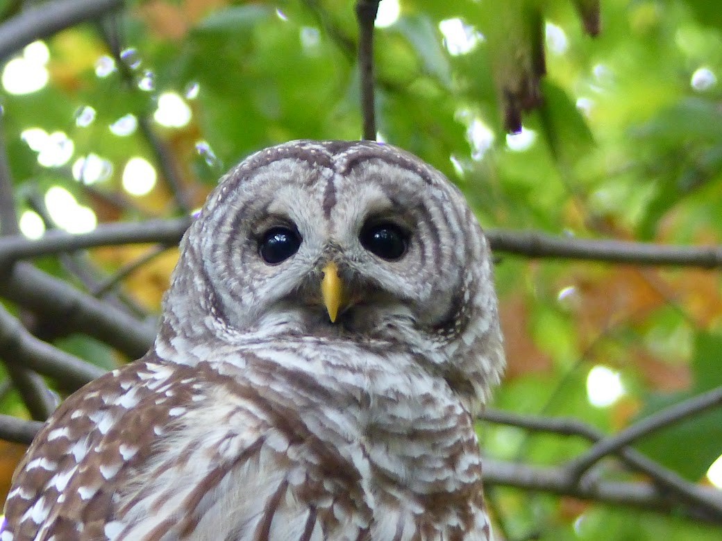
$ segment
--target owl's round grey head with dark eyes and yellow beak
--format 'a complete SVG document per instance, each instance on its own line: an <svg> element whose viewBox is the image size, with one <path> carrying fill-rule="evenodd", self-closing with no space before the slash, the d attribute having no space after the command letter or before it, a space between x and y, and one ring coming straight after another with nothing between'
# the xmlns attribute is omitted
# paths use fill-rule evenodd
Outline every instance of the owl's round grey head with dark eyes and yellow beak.
<svg viewBox="0 0 722 541"><path fill-rule="evenodd" d="M157 353L294 337L407 351L476 409L504 359L490 252L458 189L371 141L293 141L222 177L181 242Z"/></svg>

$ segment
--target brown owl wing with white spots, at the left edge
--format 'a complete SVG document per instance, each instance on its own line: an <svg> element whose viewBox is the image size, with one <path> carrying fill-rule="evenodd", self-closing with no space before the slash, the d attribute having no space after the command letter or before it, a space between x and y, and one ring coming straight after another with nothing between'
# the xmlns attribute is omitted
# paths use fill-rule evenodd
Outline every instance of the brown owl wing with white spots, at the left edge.
<svg viewBox="0 0 722 541"><path fill-rule="evenodd" d="M191 385L152 356L95 379L48 419L18 466L2 540L105 539L118 487L152 458Z"/></svg>

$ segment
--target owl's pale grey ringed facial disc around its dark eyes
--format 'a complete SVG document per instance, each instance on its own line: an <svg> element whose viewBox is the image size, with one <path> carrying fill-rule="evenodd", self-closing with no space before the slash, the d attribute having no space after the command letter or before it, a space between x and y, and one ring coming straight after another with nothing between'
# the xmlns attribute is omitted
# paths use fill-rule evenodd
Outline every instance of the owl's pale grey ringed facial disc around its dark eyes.
<svg viewBox="0 0 722 541"><path fill-rule="evenodd" d="M466 218L453 212L451 186L378 157L290 155L239 172L201 216L204 271L226 325L383 337L453 317L468 262L463 239L450 234ZM334 272L331 322L323 283Z"/></svg>

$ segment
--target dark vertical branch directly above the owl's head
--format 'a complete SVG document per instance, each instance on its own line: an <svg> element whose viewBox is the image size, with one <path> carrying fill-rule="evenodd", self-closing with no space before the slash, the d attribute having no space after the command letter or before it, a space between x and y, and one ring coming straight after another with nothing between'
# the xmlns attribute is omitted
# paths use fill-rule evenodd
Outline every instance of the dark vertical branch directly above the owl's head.
<svg viewBox="0 0 722 541"><path fill-rule="evenodd" d="M376 138L376 115L374 111L375 78L373 72L373 23L380 0L357 0L356 18L359 25L359 78L361 89L362 138Z"/></svg>

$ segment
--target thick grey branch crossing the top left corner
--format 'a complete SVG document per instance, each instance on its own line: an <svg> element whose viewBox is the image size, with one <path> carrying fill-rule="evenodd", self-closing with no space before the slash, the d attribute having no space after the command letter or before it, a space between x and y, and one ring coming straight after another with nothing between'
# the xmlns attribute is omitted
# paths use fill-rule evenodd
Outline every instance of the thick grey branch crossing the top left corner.
<svg viewBox="0 0 722 541"><path fill-rule="evenodd" d="M56 0L25 9L0 25L0 59L28 43L97 19L122 5L123 0Z"/></svg>

